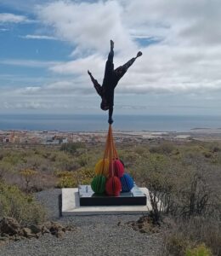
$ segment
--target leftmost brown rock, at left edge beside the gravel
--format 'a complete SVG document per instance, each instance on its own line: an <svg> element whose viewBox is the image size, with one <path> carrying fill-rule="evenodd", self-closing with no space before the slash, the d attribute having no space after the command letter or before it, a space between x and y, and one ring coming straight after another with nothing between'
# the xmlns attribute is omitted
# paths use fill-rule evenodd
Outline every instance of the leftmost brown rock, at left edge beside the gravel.
<svg viewBox="0 0 221 256"><path fill-rule="evenodd" d="M14 218L4 217L0 221L1 234L8 234L14 236L20 233L20 224Z"/></svg>

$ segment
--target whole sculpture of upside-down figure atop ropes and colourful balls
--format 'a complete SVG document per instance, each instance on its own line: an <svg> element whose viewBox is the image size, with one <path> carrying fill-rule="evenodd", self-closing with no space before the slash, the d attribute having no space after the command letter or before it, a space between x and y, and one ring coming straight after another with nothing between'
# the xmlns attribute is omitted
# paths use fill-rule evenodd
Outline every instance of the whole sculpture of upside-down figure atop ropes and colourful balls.
<svg viewBox="0 0 221 256"><path fill-rule="evenodd" d="M114 42L111 40L111 51L106 61L105 77L102 86L88 71L95 90L97 90L99 96L102 98L100 108L102 110L109 110L109 131L106 140L105 153L103 159L99 160L95 166L95 177L91 183L91 189L95 194L117 197L121 195L121 193L130 192L131 189L133 189L133 178L124 172L124 165L116 152L111 124L113 123L112 114L116 84L127 72L128 67L130 67L141 55L142 53L139 51L135 58L127 61L123 66L114 69Z"/></svg>

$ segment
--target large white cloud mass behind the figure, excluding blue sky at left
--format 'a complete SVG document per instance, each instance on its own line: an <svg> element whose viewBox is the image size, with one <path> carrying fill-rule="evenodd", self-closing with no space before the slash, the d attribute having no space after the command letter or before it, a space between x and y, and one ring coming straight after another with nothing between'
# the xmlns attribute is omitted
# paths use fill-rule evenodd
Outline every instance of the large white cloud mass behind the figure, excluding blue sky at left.
<svg viewBox="0 0 221 256"><path fill-rule="evenodd" d="M7 65L46 67L52 77L54 74L60 76L52 83L42 83L38 89L32 90L32 85L24 86L18 94L32 97L60 95L64 96L63 102L68 95L81 96L81 99L94 96L94 101L98 100L87 70L102 83L112 38L116 43L115 67L136 55L139 49L143 51L143 56L117 85L116 96L168 95L180 100L187 96L192 102L197 102L197 96L202 99L220 96L220 1L113 0L92 3L51 0L44 3L35 0L34 3L39 3L35 10L44 27L26 38L57 38L71 44L73 50L70 61L0 61ZM62 97L59 100L62 101Z"/></svg>

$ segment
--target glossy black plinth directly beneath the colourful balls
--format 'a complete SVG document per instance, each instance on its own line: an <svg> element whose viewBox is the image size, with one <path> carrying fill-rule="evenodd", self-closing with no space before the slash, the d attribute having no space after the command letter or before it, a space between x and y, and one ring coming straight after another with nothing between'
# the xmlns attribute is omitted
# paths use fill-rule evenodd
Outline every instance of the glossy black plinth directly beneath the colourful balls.
<svg viewBox="0 0 221 256"><path fill-rule="evenodd" d="M121 193L119 196L96 194L90 185L80 185L78 187L80 206L145 206L146 195L134 186L130 192Z"/></svg>

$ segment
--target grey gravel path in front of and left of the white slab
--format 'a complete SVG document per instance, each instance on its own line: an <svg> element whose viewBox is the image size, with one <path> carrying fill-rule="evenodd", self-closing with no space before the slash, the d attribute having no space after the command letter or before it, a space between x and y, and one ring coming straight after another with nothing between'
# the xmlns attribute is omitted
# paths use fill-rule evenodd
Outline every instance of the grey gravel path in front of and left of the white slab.
<svg viewBox="0 0 221 256"><path fill-rule="evenodd" d="M37 193L37 200L48 206L50 219L60 224L73 224L76 229L62 238L46 234L39 239L11 241L0 247L0 255L151 255L161 250L161 236L148 236L126 223L138 215L94 215L59 217L60 189Z"/></svg>

